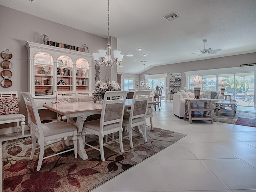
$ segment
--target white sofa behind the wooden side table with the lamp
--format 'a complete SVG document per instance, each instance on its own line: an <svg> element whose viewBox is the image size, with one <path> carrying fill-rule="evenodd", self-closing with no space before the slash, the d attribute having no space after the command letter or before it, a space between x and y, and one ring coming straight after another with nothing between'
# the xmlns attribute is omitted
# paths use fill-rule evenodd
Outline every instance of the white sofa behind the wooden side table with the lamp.
<svg viewBox="0 0 256 192"><path fill-rule="evenodd" d="M184 117L185 99L194 98L194 90L180 90L173 94L173 114L179 118ZM220 92L216 91L201 91L200 98L210 98L212 103L212 109L215 110L215 102L219 100L225 100L224 95L220 95ZM203 106L204 102L198 102L199 106ZM197 114L202 112L195 112ZM214 114L214 111L212 112Z"/></svg>

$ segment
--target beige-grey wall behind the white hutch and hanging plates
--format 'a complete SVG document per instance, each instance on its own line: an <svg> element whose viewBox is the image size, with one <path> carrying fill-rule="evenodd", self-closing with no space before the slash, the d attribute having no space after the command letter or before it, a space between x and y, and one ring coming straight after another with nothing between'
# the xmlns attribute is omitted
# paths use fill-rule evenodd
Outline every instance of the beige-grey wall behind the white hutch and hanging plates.
<svg viewBox="0 0 256 192"><path fill-rule="evenodd" d="M88 44L89 53L98 52L99 49L106 49L106 38L1 5L0 18L0 52L4 51L4 49L9 49L13 55L11 59L13 64L11 68L13 74L11 78L12 86L10 88L0 86L1 91L28 91L28 51L25 44L27 41L39 43L39 38L42 34L46 34L51 41L72 46ZM94 89L95 78L94 63L92 61L92 89ZM0 71L2 71L1 69ZM106 70L104 67L100 68L101 76L110 76L108 73L110 73L110 70ZM23 101L20 102L20 112L26 115L26 107ZM1 125L1 128L4 126Z"/></svg>

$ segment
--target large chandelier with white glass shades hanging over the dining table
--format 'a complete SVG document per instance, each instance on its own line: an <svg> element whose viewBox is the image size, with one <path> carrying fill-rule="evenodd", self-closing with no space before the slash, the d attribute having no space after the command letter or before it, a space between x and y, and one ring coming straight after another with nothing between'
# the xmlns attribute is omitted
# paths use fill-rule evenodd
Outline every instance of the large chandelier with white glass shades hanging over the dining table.
<svg viewBox="0 0 256 192"><path fill-rule="evenodd" d="M101 64L104 67L109 67L109 66L114 67L117 63L120 64L124 55L120 54L121 51L118 51L118 50L113 51L114 58L115 58L115 60L113 61L112 57L111 57L110 50L111 50L111 46L110 46L110 42L109 42L109 0L108 0L108 43L107 43L107 50L100 49L99 53L94 53L93 54L93 57L94 57L94 60L96 61L96 64ZM102 62L98 61L100 58L102 59Z"/></svg>

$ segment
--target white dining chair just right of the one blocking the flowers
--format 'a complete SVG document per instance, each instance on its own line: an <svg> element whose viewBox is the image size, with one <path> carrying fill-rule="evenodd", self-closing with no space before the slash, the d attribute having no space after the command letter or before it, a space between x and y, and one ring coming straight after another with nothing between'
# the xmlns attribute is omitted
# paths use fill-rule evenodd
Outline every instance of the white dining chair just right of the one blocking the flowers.
<svg viewBox="0 0 256 192"><path fill-rule="evenodd" d="M150 92L151 91L135 91L132 97L131 110L129 114L124 115L123 126L129 132L131 148L133 148L132 130L143 135L145 142L147 142L146 113ZM138 127L138 129L136 127Z"/></svg>

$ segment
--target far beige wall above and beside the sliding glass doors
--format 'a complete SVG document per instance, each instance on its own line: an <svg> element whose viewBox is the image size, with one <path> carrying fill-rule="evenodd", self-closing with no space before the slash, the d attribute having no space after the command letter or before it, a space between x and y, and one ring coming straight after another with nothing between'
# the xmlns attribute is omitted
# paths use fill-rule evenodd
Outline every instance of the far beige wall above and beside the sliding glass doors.
<svg viewBox="0 0 256 192"><path fill-rule="evenodd" d="M166 79L166 92L169 91L170 73L182 72L182 89L186 85L186 76L184 71L206 70L206 69L218 69L218 68L230 68L239 67L241 64L256 63L256 52L249 54L241 54L228 57L220 57L213 59L204 59L192 62L183 62L169 65L156 66L150 70L145 71L147 74L161 74L168 73ZM256 70L256 66L255 66ZM144 73L140 74L140 79L144 78Z"/></svg>

